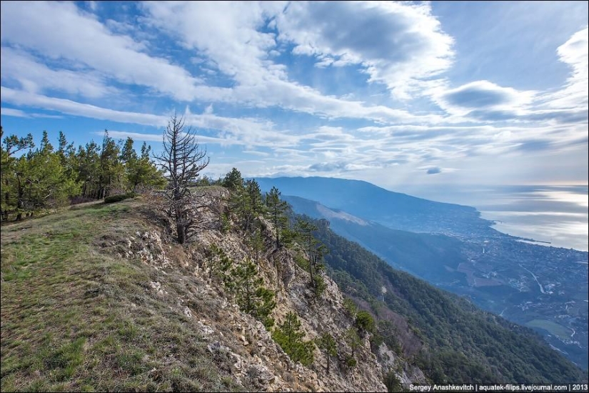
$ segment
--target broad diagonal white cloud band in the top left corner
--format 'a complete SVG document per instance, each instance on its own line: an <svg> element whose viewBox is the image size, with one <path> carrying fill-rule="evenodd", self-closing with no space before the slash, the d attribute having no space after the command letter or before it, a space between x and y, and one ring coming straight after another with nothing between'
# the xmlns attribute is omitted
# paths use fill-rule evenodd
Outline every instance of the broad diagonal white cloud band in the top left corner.
<svg viewBox="0 0 589 393"><path fill-rule="evenodd" d="M28 48L54 61L74 61L121 83L148 86L178 100L193 99L199 82L180 66L143 53L143 45L131 37L112 34L73 2L3 2L0 29L3 44Z"/></svg>

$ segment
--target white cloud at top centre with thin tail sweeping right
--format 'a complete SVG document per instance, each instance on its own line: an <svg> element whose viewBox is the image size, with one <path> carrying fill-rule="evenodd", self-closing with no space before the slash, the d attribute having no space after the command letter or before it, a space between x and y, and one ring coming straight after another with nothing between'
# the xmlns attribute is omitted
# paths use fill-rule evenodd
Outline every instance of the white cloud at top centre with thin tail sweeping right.
<svg viewBox="0 0 589 393"><path fill-rule="evenodd" d="M286 67L276 64L270 54L278 48L275 35L259 31L268 18L281 14L279 3L166 1L146 3L144 7L150 24L168 31L187 49L208 56L219 71L236 81L231 88L198 86L196 99L254 107L281 106L318 116L386 123L439 120L439 116L416 116L401 109L326 96L288 80Z"/></svg>

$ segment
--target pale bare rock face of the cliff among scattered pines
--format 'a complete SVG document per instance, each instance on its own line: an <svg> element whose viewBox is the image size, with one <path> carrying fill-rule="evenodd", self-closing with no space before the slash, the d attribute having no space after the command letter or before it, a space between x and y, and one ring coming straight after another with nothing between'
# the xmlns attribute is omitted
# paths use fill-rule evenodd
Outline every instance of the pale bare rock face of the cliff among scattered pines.
<svg viewBox="0 0 589 393"><path fill-rule="evenodd" d="M199 219L216 217L203 213ZM171 304L176 304L171 307L173 312L193 321L193 329L208 343L206 348L213 362L243 387L267 392L386 392L383 375L393 367L399 369L400 364L393 352L383 344L377 359L365 335L355 349L356 367L347 367L344 359L351 354L351 348L344 337L353 321L343 309L343 296L337 284L324 277L325 292L315 297L308 285L308 272L298 267L293 252L276 249L271 223L263 224L265 247L258 255L257 266L264 286L276 294L271 317L280 324L288 312L295 312L306 340L316 339L323 332L331 333L338 344L338 356L331 358L329 372L326 355L319 349L315 349L310 367L293 362L273 341L271 332L251 315L241 312L231 294L211 279L208 250L213 245L236 262L252 257L243 232L236 226L227 233L203 230L186 247L168 242L166 229L155 226L132 235L101 239L99 245L120 257L139 258L156 268L158 281L146 282L146 291L158 297L171 297ZM188 285L182 274L198 284ZM423 379L420 373L418 369L403 369L398 379L405 383L419 381Z"/></svg>

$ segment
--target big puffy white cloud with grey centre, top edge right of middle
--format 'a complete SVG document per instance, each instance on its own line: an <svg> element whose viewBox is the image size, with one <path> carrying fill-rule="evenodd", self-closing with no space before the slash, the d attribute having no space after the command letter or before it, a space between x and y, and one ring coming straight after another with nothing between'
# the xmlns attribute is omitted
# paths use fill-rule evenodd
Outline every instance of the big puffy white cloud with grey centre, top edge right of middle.
<svg viewBox="0 0 589 393"><path fill-rule="evenodd" d="M404 99L452 64L453 39L428 4L296 1L276 26L295 54L316 56L318 66L361 64L370 81Z"/></svg>

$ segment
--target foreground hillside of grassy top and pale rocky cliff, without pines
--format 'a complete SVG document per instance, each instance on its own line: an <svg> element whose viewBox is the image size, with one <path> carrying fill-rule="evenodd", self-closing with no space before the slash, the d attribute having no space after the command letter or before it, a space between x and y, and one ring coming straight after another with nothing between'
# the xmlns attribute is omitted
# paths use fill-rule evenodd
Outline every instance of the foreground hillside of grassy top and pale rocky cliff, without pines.
<svg viewBox="0 0 589 393"><path fill-rule="evenodd" d="M224 189L208 192L223 203ZM269 330L294 313L306 342L331 333L338 344L329 371L314 346L311 364L293 362L218 279L215 253L237 268L252 257L236 224L181 247L154 206L81 204L2 227L3 392L386 391L388 370L368 337L353 352L346 344L353 320L336 284L326 277L316 299L293 252L273 247L269 230L256 264L276 301ZM346 366L350 353L361 366Z"/></svg>

